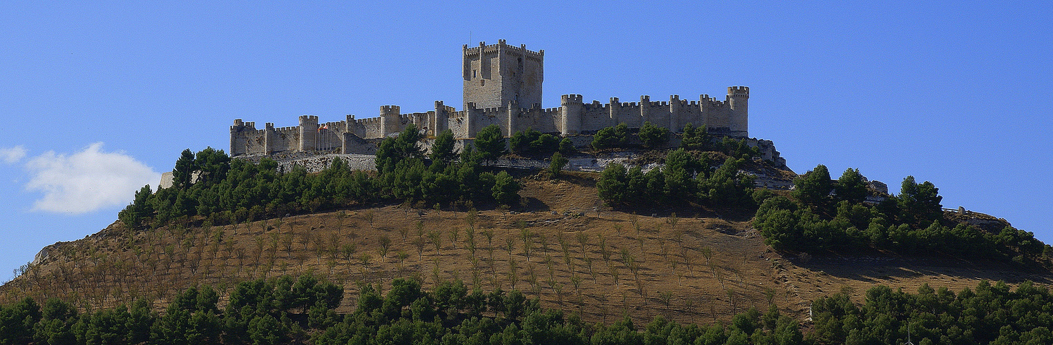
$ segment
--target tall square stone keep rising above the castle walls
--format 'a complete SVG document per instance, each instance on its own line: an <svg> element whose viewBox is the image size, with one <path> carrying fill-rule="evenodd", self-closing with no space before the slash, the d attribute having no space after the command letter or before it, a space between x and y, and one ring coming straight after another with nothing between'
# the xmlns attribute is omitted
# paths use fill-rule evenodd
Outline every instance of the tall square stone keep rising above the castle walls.
<svg viewBox="0 0 1053 345"><path fill-rule="evenodd" d="M541 105L544 50L531 52L526 45L512 46L479 42L464 45L464 108L501 107L515 103L529 108Z"/></svg>

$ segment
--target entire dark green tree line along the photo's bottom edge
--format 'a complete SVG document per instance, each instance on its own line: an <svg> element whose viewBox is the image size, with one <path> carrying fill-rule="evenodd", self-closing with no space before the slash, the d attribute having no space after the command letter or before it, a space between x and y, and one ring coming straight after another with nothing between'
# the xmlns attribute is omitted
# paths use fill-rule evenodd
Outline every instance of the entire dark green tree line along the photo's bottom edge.
<svg viewBox="0 0 1053 345"><path fill-rule="evenodd" d="M0 305L0 344L1049 344L1053 296L1031 282L1016 289L981 281L953 292L875 286L862 304L842 291L812 303L812 331L770 307L728 323L677 324L656 317L588 324L543 309L518 290L469 290L460 281L432 290L396 279L388 291L362 284L354 310L336 312L342 289L312 275L236 285L227 303L211 286L177 295L163 312L144 299L80 310L58 299Z"/></svg>

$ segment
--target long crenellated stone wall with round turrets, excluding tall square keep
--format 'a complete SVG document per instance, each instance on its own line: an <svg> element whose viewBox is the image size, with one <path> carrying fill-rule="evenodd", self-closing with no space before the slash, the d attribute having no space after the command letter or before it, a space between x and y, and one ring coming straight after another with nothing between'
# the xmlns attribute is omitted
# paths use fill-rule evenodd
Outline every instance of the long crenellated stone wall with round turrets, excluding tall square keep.
<svg viewBox="0 0 1053 345"><path fill-rule="evenodd" d="M733 107L733 97L744 103L748 87L729 87L729 93L744 90L742 96L728 96L719 101L701 95L699 100L681 100L673 95L669 101L651 101L641 96L640 102L619 102L611 98L609 103L593 101L583 103L580 95L564 95L561 106L552 108L521 108L515 103L502 107L470 107L457 111L436 102L436 109L426 113L400 114L397 105L380 108L380 117L355 119L347 116L344 121L318 123L318 118L301 116L299 126L275 127L267 123L263 129L256 129L255 122L234 121L231 126L231 155L271 154L290 150L351 150L354 141L360 139L381 139L398 134L410 124L423 130L425 136L435 136L443 129L451 129L455 138L475 138L476 133L495 124L505 137L516 131L533 128L542 133L572 136L592 134L601 128L625 123L630 128L638 128L644 122L670 128L679 133L691 123L706 125L710 133L732 138L748 138L744 111ZM740 92L741 93L741 92ZM474 106L474 104L469 104ZM436 114L439 114L438 116Z"/></svg>

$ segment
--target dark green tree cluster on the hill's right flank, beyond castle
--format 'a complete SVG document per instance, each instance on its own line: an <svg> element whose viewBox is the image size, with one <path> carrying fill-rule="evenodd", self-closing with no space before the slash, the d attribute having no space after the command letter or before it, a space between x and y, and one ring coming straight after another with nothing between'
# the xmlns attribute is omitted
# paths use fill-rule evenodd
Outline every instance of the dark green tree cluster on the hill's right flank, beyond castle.
<svg viewBox="0 0 1053 345"><path fill-rule="evenodd" d="M799 177L791 198L764 198L754 225L776 249L796 251L867 248L901 253L943 252L971 258L1013 258L1044 255L1047 245L1032 232L1006 226L998 232L943 219L942 197L931 182L903 179L900 194L880 202L865 202L872 194L858 169L837 181L818 165Z"/></svg>

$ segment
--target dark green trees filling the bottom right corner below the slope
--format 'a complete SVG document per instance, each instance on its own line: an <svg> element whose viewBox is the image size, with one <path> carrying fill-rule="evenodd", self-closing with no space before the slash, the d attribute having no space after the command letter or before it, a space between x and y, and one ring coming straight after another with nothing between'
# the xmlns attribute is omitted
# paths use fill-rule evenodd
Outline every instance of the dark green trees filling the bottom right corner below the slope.
<svg viewBox="0 0 1053 345"><path fill-rule="evenodd" d="M1053 296L1024 282L980 282L958 293L918 288L916 295L876 286L862 305L846 293L812 303L814 331L823 344L1053 344Z"/></svg>

